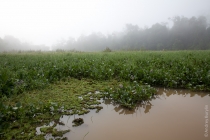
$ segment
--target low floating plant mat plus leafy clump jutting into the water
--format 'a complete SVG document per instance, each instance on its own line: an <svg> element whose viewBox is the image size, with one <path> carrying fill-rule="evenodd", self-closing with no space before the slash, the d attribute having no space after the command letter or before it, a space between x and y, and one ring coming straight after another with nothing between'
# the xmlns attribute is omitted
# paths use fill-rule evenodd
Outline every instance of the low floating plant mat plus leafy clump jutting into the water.
<svg viewBox="0 0 210 140"><path fill-rule="evenodd" d="M107 89L110 94L105 92ZM103 109L100 99L116 98L118 94L115 93L116 96L112 93L115 90L123 92L118 98L119 103L128 107L134 105L131 103L131 99L137 98L137 96L138 100L150 99L150 96L152 97L155 92L154 88L149 85L142 86L137 82L69 78L56 82L44 90L33 90L11 98L4 97L1 99L3 104L0 102L2 109L0 119L1 121L5 120L2 125L5 126L5 129L0 133L0 139L40 140L49 134L54 138L65 138L62 135L71 129L66 128L60 131L55 128L55 126L63 124L62 121L59 121L60 116L83 115L93 109L95 112L99 112ZM138 100L135 99L135 102ZM38 129L40 127L41 129Z"/></svg>

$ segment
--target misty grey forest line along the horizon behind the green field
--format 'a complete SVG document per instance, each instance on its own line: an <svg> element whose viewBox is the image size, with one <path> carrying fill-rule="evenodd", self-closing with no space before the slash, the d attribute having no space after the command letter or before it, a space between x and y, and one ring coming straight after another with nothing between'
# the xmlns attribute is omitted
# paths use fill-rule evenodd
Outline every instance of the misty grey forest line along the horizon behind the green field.
<svg viewBox="0 0 210 140"><path fill-rule="evenodd" d="M167 23L156 23L151 27L140 28L138 25L126 24L122 32L104 35L100 32L81 35L77 40L69 37L54 44L52 50L102 51L111 50L207 50L210 49L210 26L207 18L180 17L169 19ZM18 39L6 36L0 38L0 51L31 50L31 48L48 50L45 45L21 43Z"/></svg>

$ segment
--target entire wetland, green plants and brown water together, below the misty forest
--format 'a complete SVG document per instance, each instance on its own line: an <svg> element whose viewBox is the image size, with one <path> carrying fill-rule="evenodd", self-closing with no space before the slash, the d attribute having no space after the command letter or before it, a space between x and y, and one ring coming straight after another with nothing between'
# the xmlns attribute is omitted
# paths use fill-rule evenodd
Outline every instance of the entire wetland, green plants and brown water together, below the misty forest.
<svg viewBox="0 0 210 140"><path fill-rule="evenodd" d="M108 100L100 104L98 99L111 98L133 108L154 98L155 86L210 91L209 54L210 51L2 53L0 140L41 140L50 135L76 140L178 136L202 139L204 104L210 101L207 93L173 91L175 95L167 96L170 91L164 91L167 95L160 92L160 98L144 102L133 112ZM189 97L191 94L185 95L186 92L194 96ZM74 117L82 117L84 124L72 127ZM50 122L51 127L39 129Z"/></svg>

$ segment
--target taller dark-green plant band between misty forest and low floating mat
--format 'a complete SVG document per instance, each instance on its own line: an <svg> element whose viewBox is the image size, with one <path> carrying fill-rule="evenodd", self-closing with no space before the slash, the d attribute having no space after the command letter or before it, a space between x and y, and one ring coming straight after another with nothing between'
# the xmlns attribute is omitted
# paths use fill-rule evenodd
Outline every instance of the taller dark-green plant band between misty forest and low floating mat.
<svg viewBox="0 0 210 140"><path fill-rule="evenodd" d="M43 89L69 77L206 90L209 55L210 51L1 54L0 97Z"/></svg>

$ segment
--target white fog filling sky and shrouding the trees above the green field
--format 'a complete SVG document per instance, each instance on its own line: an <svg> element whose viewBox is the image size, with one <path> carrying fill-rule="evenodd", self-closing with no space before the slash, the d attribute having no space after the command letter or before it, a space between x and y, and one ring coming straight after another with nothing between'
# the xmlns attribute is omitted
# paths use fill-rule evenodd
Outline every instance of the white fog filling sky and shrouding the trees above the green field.
<svg viewBox="0 0 210 140"><path fill-rule="evenodd" d="M1 0L0 51L210 49L209 5L209 0Z"/></svg>

